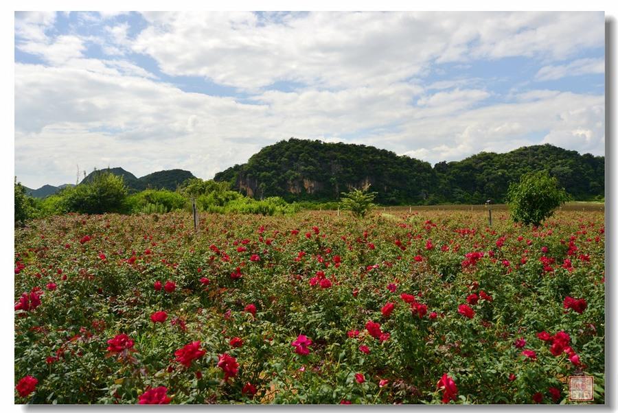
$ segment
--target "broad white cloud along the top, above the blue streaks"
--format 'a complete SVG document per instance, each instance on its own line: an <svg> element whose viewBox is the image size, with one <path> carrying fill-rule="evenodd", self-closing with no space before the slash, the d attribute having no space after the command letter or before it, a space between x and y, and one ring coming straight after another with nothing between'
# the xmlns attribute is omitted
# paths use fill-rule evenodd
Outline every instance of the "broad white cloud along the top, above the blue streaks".
<svg viewBox="0 0 618 413"><path fill-rule="evenodd" d="M255 90L280 80L348 87L400 82L437 62L563 59L602 47L593 12L314 12L260 25L252 13L147 13L133 49L171 75Z"/></svg>

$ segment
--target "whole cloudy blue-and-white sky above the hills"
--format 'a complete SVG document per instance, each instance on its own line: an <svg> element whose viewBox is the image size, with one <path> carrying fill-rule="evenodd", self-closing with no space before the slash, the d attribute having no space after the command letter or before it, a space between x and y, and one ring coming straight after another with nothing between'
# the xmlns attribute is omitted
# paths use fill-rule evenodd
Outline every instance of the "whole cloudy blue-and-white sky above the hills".
<svg viewBox="0 0 618 413"><path fill-rule="evenodd" d="M295 137L604 155L603 12L16 12L15 175L199 178Z"/></svg>

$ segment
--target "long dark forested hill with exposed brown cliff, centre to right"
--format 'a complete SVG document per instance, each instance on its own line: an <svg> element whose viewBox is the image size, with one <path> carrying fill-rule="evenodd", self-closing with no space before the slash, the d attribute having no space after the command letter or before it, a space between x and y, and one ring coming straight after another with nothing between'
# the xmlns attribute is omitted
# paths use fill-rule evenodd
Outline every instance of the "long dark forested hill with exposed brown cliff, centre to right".
<svg viewBox="0 0 618 413"><path fill-rule="evenodd" d="M525 172L549 170L575 200L604 196L605 158L553 145L481 152L434 167L409 156L365 145L289 139L262 148L214 180L255 198L336 200L352 187L378 192L380 204L503 202L509 183Z"/></svg>

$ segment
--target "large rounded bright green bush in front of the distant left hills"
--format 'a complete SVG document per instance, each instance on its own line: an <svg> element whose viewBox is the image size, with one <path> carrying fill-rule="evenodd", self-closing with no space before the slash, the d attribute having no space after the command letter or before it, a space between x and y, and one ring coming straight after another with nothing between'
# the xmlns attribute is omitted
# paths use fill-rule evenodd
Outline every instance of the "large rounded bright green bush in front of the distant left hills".
<svg viewBox="0 0 618 413"><path fill-rule="evenodd" d="M62 199L69 212L122 213L126 211L127 193L122 176L100 172L91 180L62 191Z"/></svg>

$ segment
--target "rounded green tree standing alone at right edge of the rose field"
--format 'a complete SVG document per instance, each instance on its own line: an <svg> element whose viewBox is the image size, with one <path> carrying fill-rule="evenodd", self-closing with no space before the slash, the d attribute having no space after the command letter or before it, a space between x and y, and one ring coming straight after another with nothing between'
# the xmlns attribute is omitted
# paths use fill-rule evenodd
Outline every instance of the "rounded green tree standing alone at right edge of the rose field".
<svg viewBox="0 0 618 413"><path fill-rule="evenodd" d="M538 226L553 215L553 210L569 200L564 188L558 187L558 179L549 172L528 172L519 183L512 182L507 192L507 203L515 222Z"/></svg>

